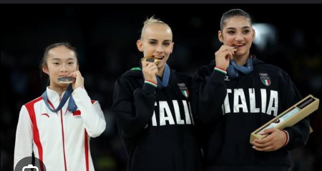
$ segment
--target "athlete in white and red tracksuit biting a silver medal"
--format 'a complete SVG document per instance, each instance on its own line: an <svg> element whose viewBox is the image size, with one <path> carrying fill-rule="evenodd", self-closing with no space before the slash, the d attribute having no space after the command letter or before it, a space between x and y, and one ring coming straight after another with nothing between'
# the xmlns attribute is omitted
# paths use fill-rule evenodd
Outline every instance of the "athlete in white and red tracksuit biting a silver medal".
<svg viewBox="0 0 322 171"><path fill-rule="evenodd" d="M45 103L44 94L23 105L17 125L14 167L33 152L49 171L93 171L90 137L99 136L106 125L99 102L91 100L84 89L76 51L69 44L50 45L44 59L43 71L50 78L50 86L44 93L48 106L57 109L67 92L68 84L59 83L57 77L70 75L76 78L71 97L77 107L74 111L69 110L69 97L59 111L52 112Z"/></svg>

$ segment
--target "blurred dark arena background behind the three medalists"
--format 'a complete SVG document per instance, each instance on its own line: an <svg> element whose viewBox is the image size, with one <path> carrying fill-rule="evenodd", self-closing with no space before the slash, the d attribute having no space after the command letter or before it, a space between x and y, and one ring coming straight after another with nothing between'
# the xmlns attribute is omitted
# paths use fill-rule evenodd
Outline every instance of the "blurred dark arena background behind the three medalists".
<svg viewBox="0 0 322 171"><path fill-rule="evenodd" d="M132 10L111 4L7 6L1 11L1 170L13 170L21 106L45 90L39 76L43 49L64 41L77 48L86 90L99 100L107 122L105 132L90 142L95 169L125 170L127 155L110 110L114 82L138 66L141 54L136 40L143 21L153 14L173 31L175 47L169 66L193 75L214 59L221 46L217 32L223 12L245 10L253 17L257 32L251 52L289 73L303 97L312 94L321 99L320 14L303 5L285 10L278 10L277 5L150 4L131 5ZM321 170L321 107L309 117L314 132L305 147L291 151L292 171Z"/></svg>

